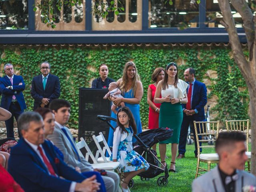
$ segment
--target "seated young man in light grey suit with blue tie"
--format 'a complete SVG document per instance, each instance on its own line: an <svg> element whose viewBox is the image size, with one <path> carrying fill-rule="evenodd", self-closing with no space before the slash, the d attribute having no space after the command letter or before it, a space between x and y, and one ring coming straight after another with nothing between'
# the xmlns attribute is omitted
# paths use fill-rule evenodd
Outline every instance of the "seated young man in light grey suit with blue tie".
<svg viewBox="0 0 256 192"><path fill-rule="evenodd" d="M84 156L78 153L79 149L73 140L72 134L65 126L70 118L70 103L64 99L55 99L49 108L55 115L54 132L47 138L56 145L64 155L64 162L72 168L79 167L81 172L100 171L93 169ZM102 176L107 192L118 192L119 176L115 172L107 171L106 176Z"/></svg>

